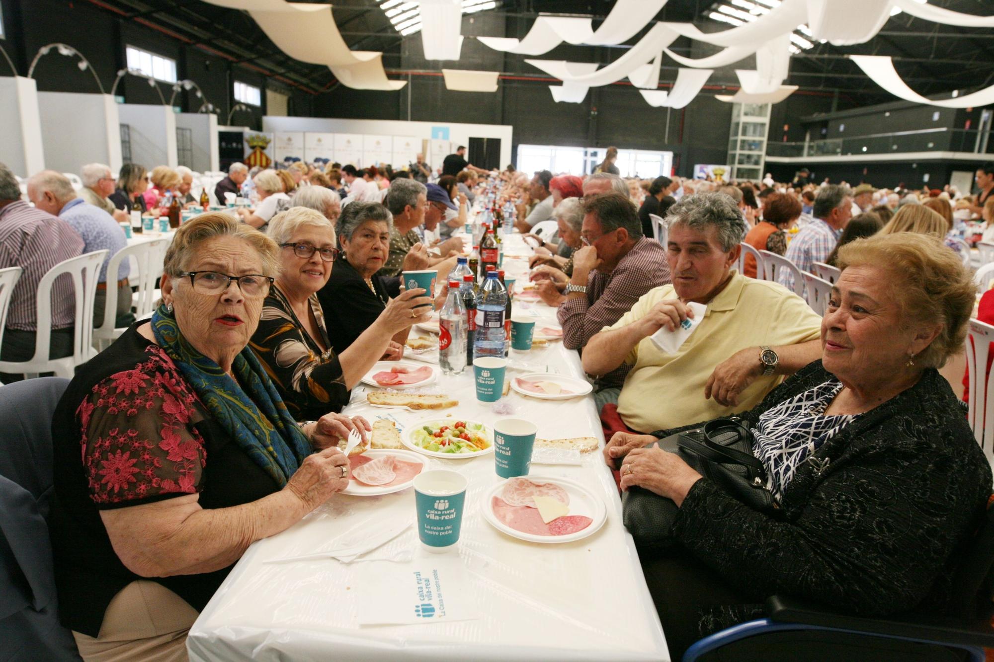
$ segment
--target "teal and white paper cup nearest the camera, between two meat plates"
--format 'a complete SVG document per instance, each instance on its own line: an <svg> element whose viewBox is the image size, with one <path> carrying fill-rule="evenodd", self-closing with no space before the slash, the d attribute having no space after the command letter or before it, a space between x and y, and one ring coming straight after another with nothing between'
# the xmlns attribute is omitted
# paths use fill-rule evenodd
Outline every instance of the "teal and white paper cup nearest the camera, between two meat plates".
<svg viewBox="0 0 994 662"><path fill-rule="evenodd" d="M414 477L417 537L428 552L447 552L458 542L467 485L461 473L443 469Z"/></svg>

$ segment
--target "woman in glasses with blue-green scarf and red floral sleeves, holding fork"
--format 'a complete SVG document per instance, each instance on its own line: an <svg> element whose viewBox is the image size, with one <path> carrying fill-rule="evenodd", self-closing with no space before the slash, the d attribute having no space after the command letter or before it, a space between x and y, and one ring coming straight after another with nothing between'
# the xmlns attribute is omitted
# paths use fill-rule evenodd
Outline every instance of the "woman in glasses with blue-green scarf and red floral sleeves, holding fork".
<svg viewBox="0 0 994 662"><path fill-rule="evenodd" d="M248 546L348 485L338 439L369 423L297 423L247 347L280 251L227 214L183 224L163 305L81 366L56 409L59 611L85 660L186 659Z"/></svg>

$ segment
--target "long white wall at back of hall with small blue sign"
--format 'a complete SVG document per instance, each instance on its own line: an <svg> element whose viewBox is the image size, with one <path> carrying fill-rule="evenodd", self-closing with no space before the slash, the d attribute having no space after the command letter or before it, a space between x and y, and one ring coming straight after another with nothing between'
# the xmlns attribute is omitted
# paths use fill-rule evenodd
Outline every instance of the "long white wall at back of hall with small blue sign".
<svg viewBox="0 0 994 662"><path fill-rule="evenodd" d="M504 124L460 124L454 122L414 122L394 119L329 119L324 117L262 117L263 131L322 131L327 133L356 133L360 135L411 136L431 138L434 127L447 128L448 140L469 146L469 138L500 138L500 163L511 162L513 127ZM473 162L473 155L469 155ZM395 166L406 164L396 163ZM441 163L431 163L440 168ZM474 164L475 165L475 164Z"/></svg>

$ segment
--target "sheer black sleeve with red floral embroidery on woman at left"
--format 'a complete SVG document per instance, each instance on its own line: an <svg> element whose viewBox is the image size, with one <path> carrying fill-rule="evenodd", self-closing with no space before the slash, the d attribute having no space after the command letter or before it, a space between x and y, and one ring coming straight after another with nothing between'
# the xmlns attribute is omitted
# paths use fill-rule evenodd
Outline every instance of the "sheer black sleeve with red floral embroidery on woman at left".
<svg viewBox="0 0 994 662"><path fill-rule="evenodd" d="M207 462L194 423L205 410L161 348L96 384L77 410L83 470L96 504L199 491Z"/></svg>

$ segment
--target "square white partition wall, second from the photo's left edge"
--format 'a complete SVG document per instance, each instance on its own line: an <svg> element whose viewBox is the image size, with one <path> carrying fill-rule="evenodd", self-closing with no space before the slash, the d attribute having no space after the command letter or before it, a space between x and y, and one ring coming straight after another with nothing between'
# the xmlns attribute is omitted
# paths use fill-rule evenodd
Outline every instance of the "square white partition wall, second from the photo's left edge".
<svg viewBox="0 0 994 662"><path fill-rule="evenodd" d="M38 92L46 166L79 174L86 163L105 163L116 175L121 167L117 105L110 94Z"/></svg>

